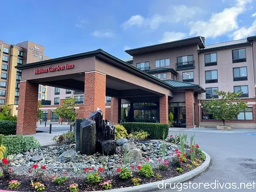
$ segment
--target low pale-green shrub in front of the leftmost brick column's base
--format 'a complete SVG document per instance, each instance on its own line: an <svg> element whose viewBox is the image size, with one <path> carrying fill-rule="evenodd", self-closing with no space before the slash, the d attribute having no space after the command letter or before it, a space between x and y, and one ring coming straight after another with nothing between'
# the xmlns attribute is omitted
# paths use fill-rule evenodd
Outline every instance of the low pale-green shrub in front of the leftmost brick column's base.
<svg viewBox="0 0 256 192"><path fill-rule="evenodd" d="M30 148L34 149L40 146L34 137L23 135L3 136L3 145L8 148L8 154L18 154L30 150Z"/></svg>

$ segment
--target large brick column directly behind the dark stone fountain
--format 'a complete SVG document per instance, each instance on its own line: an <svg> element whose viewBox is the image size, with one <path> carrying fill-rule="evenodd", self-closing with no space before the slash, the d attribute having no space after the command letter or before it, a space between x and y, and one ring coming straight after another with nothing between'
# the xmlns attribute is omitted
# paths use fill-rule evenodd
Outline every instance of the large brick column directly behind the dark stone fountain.
<svg viewBox="0 0 256 192"><path fill-rule="evenodd" d="M84 109L83 117L99 108L105 118L106 75L98 72L84 74Z"/></svg>

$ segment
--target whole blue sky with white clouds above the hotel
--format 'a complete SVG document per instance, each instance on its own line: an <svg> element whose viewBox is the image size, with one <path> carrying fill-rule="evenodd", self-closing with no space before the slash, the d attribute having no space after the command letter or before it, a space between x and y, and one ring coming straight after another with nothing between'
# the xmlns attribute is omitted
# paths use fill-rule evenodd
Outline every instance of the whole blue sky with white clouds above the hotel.
<svg viewBox="0 0 256 192"><path fill-rule="evenodd" d="M256 35L256 0L3 1L0 40L51 58L96 49L120 58L148 45L204 36L206 45Z"/></svg>

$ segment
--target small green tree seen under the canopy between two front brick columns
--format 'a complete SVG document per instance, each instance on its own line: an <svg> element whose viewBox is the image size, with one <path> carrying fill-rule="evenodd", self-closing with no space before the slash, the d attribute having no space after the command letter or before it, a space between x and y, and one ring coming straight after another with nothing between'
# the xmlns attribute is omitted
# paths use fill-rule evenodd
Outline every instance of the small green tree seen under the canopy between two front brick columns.
<svg viewBox="0 0 256 192"><path fill-rule="evenodd" d="M75 98L68 98L63 100L63 104L54 110L54 114L61 117L61 118L67 118L71 119L72 117L76 117L76 99Z"/></svg>

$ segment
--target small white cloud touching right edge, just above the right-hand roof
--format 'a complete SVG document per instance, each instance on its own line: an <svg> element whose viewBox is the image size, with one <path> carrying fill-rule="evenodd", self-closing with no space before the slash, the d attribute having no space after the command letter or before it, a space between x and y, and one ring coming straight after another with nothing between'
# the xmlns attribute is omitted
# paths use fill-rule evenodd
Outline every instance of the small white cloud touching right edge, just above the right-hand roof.
<svg viewBox="0 0 256 192"><path fill-rule="evenodd" d="M246 38L248 36L253 36L255 34L256 34L256 20L254 20L254 22L251 24L250 27L248 28L242 27L234 31L231 36L233 36L233 39L236 40L236 39Z"/></svg>

